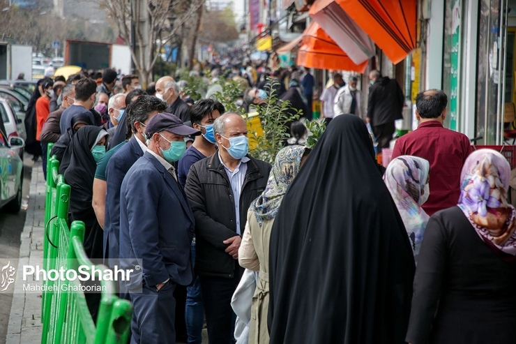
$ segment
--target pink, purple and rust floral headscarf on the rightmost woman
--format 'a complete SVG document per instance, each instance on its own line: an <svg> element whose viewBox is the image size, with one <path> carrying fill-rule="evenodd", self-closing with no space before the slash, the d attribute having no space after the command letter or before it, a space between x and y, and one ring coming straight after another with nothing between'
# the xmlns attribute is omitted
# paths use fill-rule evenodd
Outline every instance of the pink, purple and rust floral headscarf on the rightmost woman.
<svg viewBox="0 0 516 344"><path fill-rule="evenodd" d="M507 202L509 178L510 165L503 155L492 149L474 151L462 167L458 206L491 248L515 256L516 210Z"/></svg>

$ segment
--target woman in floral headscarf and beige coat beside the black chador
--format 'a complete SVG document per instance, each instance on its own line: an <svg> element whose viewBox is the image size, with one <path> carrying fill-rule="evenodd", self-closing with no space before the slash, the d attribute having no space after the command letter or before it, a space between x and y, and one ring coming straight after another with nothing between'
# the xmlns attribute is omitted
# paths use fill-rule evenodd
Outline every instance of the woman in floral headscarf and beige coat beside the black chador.
<svg viewBox="0 0 516 344"><path fill-rule="evenodd" d="M308 149L303 146L289 146L282 149L268 177L264 193L252 202L248 221L238 250L241 267L259 271L255 295L252 298L252 317L249 344L268 343L268 248L274 218L287 188L299 172Z"/></svg>

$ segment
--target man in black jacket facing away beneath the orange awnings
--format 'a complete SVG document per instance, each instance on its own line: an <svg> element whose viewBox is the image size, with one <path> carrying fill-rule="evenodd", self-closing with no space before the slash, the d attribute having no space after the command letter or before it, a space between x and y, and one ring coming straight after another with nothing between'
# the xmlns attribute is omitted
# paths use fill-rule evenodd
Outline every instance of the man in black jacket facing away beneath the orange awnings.
<svg viewBox="0 0 516 344"><path fill-rule="evenodd" d="M365 121L371 124L379 148L389 148L395 131L394 121L403 118L403 91L396 80L381 77L378 70L369 73L369 80L372 86L369 89Z"/></svg>

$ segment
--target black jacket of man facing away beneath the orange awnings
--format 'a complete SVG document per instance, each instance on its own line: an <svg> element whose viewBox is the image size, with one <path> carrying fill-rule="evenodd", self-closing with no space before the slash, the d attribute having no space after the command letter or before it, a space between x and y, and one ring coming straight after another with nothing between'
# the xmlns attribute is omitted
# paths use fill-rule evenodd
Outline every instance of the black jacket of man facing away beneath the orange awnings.
<svg viewBox="0 0 516 344"><path fill-rule="evenodd" d="M367 117L371 125L381 126L402 119L404 102L402 89L396 80L389 77L378 79L370 87L367 101Z"/></svg>

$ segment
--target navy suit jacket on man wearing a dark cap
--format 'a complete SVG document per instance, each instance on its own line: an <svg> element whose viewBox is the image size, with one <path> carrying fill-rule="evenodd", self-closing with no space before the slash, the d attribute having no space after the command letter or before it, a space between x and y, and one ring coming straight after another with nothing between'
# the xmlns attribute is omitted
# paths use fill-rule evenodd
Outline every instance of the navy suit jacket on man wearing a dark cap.
<svg viewBox="0 0 516 344"><path fill-rule="evenodd" d="M179 184L146 151L127 172L120 195L120 258L142 264L127 286L136 287L141 278L149 287L167 278L180 285L192 283L194 228L194 216Z"/></svg>

